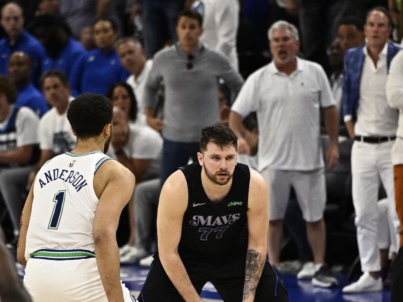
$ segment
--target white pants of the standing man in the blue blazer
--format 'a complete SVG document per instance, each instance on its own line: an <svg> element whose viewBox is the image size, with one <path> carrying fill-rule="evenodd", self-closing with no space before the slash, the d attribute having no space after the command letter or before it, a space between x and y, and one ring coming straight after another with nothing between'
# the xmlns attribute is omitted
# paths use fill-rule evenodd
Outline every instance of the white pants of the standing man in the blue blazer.
<svg viewBox="0 0 403 302"><path fill-rule="evenodd" d="M351 152L353 177L353 202L356 212L357 242L361 269L380 270L378 243L378 191L380 181L387 194L389 215L393 225L397 246L399 242L399 220L394 204L393 166L390 150L393 141L366 143L355 141ZM387 221L384 221L387 224ZM391 252L397 252L391 251Z"/></svg>

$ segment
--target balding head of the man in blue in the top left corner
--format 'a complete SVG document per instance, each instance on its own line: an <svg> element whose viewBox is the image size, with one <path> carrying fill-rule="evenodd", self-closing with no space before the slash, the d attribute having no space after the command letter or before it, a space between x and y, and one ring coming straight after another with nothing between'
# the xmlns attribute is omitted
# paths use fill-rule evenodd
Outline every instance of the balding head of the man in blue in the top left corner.
<svg viewBox="0 0 403 302"><path fill-rule="evenodd" d="M23 10L15 2L6 4L2 8L1 23L11 42L15 42L24 30Z"/></svg>

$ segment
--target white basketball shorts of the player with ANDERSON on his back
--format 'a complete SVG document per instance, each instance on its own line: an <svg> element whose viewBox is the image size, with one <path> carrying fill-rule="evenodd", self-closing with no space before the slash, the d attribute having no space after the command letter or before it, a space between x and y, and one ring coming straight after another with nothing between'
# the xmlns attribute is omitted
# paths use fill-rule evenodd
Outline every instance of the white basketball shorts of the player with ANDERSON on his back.
<svg viewBox="0 0 403 302"><path fill-rule="evenodd" d="M34 302L108 302L95 258L29 259L24 285ZM134 302L122 283L124 302Z"/></svg>

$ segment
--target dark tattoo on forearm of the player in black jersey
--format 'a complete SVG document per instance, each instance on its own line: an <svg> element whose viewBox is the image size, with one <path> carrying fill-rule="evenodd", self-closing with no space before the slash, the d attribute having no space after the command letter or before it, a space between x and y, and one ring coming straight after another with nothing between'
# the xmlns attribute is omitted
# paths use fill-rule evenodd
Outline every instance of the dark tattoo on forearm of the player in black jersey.
<svg viewBox="0 0 403 302"><path fill-rule="evenodd" d="M243 299L254 295L260 275L263 270L265 257L255 250L248 250L245 265L245 283L243 286Z"/></svg>

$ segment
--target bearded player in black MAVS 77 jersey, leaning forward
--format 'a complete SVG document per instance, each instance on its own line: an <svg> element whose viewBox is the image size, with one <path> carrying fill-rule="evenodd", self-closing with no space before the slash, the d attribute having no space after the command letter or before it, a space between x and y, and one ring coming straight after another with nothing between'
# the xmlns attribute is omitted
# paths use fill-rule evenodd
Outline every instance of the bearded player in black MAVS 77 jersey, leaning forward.
<svg viewBox="0 0 403 302"><path fill-rule="evenodd" d="M237 136L228 127L206 127L198 163L165 182L158 249L139 301L200 302L208 281L225 302L288 301L266 261L267 184L237 164L236 148Z"/></svg>

